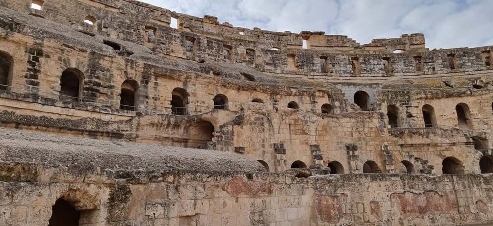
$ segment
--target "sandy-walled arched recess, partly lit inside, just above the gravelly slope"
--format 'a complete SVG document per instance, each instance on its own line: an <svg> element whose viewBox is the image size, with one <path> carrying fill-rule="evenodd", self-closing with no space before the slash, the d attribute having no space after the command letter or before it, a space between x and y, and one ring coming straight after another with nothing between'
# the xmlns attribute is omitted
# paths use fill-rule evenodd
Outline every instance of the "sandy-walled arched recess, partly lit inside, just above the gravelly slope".
<svg viewBox="0 0 493 226"><path fill-rule="evenodd" d="M188 128L188 147L207 149L207 144L214 137L214 125L211 122L202 121Z"/></svg>

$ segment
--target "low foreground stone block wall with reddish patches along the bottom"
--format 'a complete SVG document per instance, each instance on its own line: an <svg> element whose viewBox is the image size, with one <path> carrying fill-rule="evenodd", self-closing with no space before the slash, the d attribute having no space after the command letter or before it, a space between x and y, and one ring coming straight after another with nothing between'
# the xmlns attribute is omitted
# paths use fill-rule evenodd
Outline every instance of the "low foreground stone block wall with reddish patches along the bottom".
<svg viewBox="0 0 493 226"><path fill-rule="evenodd" d="M59 198L80 211L79 225L467 225L493 220L492 176L299 178L294 171L109 169L97 175L29 164L2 164L1 169L2 225L47 225ZM14 171L22 177L5 173Z"/></svg>

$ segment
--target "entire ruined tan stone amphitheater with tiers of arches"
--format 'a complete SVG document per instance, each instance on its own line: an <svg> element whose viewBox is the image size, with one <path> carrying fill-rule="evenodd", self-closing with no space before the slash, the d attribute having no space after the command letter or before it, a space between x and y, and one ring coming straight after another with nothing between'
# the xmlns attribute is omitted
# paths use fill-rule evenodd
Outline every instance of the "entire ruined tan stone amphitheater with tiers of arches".
<svg viewBox="0 0 493 226"><path fill-rule="evenodd" d="M0 0L0 225L488 224L492 57Z"/></svg>

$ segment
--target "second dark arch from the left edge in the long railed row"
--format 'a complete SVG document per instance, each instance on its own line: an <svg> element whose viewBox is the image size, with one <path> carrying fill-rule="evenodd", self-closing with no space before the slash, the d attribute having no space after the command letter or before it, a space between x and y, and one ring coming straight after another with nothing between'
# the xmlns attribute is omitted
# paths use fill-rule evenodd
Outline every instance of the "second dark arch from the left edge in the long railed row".
<svg viewBox="0 0 493 226"><path fill-rule="evenodd" d="M60 78L60 99L78 101L82 96L82 81L84 75L77 68L67 68Z"/></svg>

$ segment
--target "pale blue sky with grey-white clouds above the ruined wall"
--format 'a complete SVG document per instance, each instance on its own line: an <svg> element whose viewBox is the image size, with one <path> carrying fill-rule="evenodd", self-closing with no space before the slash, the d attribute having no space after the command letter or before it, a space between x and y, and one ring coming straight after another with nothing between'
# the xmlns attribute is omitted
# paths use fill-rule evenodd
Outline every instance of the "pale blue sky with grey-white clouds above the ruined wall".
<svg viewBox="0 0 493 226"><path fill-rule="evenodd" d="M493 0L141 0L220 23L270 31L324 31L361 44L424 33L433 48L493 45Z"/></svg>

